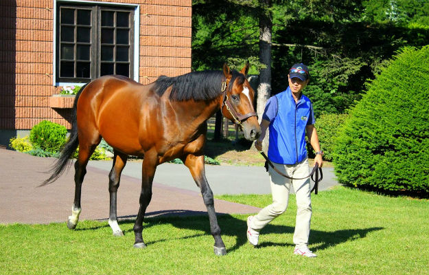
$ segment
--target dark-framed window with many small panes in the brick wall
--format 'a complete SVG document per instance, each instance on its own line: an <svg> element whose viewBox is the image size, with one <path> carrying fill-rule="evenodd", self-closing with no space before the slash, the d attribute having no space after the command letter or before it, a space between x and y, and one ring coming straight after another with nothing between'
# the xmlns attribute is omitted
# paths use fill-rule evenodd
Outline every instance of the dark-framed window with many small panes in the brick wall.
<svg viewBox="0 0 429 275"><path fill-rule="evenodd" d="M134 10L113 5L57 7L56 82L133 76Z"/></svg>

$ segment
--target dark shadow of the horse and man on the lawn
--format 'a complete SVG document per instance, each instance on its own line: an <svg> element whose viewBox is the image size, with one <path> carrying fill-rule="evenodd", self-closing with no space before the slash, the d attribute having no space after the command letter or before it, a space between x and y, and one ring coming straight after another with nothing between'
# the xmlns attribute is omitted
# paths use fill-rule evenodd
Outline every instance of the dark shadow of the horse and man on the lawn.
<svg viewBox="0 0 429 275"><path fill-rule="evenodd" d="M180 216L178 216L180 214ZM175 228L181 228L186 230L202 231L204 233L194 234L192 236L185 236L181 239L191 239L194 237L203 236L204 234L210 235L209 217L206 212L202 211L190 211L190 210L166 210L149 212L148 216L145 217L143 223L143 239L145 229L151 228L152 226L160 224L171 224ZM246 221L232 217L229 214L218 214L218 223L222 229L222 236L235 237L236 243L232 247L227 247L229 252L239 249L242 245L247 243L246 238ZM119 217L120 224L134 224L136 216L124 216ZM96 230L98 228L108 227L108 225L98 226L95 228L82 228L81 230ZM336 230L334 232L325 232L321 230L311 230L310 232L310 244L317 243L318 245L312 246L313 251L324 250L326 248L338 245L340 243L346 243L347 241L354 241L362 239L367 236L368 233L384 228L363 228L363 229L348 229L348 230ZM272 225L268 224L262 230L261 234L292 234L294 233L294 227L286 225ZM134 234L132 229L124 230L124 234ZM152 243L159 243L168 241L168 239L160 239L157 241L145 240L147 245ZM284 242L274 243L270 241L263 241L259 243L258 248L270 247L270 246L294 246L292 243L292 236L290 240L284 240Z"/></svg>

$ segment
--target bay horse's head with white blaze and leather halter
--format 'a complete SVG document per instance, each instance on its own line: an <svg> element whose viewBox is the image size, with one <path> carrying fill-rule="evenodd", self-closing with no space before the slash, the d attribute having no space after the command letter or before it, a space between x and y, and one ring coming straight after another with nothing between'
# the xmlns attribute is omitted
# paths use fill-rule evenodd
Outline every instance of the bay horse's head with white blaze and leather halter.
<svg viewBox="0 0 429 275"><path fill-rule="evenodd" d="M242 126L244 137L247 140L256 140L261 134L261 128L257 122L257 113L253 107L255 91L246 79L248 63L240 72L229 69L225 63L223 67L225 83L222 83L223 99L222 114L225 118Z"/></svg>

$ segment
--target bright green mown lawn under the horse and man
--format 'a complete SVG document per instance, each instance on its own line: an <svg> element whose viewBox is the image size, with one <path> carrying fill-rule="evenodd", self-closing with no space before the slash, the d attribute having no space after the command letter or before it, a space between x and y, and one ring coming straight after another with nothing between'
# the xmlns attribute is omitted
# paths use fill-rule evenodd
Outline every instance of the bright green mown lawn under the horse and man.
<svg viewBox="0 0 429 275"><path fill-rule="evenodd" d="M264 207L269 195L227 195ZM296 211L289 209L261 232L260 245L246 241L246 215L220 215L229 253L213 254L209 221L157 217L143 223L148 247L132 248L133 221L121 221L124 237L106 222L0 225L1 274L429 274L429 201L385 197L344 187L312 197L310 249L292 254Z"/></svg>

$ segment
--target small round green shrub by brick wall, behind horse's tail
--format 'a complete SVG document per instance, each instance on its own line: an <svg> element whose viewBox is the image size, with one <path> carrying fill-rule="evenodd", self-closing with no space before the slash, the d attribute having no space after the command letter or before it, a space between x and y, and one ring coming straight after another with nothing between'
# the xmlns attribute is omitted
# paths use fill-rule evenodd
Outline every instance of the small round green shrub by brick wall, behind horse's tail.
<svg viewBox="0 0 429 275"><path fill-rule="evenodd" d="M66 142L67 129L65 126L43 120L33 126L30 131L30 142L34 148L40 148L49 153L61 150Z"/></svg>

